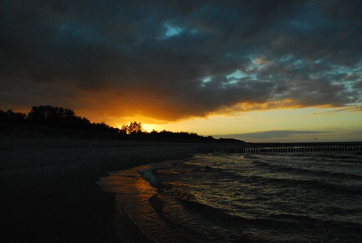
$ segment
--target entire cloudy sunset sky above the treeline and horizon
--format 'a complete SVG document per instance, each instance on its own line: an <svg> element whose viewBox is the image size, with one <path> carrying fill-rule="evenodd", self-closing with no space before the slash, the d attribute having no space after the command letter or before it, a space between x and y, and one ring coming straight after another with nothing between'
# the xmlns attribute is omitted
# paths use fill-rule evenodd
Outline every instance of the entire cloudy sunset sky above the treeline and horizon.
<svg viewBox="0 0 362 243"><path fill-rule="evenodd" d="M362 140L362 1L0 0L0 109ZM317 138L317 139L316 139Z"/></svg>

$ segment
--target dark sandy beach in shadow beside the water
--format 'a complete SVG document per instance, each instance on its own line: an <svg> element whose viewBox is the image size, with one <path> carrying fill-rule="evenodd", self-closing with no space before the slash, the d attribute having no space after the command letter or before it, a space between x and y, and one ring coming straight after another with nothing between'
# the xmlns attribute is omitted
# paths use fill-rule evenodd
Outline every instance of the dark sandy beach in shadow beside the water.
<svg viewBox="0 0 362 243"><path fill-rule="evenodd" d="M0 133L0 242L147 242L96 182L150 162L233 144L125 142ZM123 225L117 232L114 225ZM119 227L117 227L119 228Z"/></svg>

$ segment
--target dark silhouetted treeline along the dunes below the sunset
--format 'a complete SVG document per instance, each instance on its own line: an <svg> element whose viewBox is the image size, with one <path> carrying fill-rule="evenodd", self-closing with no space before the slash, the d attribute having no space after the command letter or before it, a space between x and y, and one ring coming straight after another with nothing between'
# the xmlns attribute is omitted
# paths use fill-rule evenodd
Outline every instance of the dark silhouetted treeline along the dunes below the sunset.
<svg viewBox="0 0 362 243"><path fill-rule="evenodd" d="M28 113L0 110L0 122L24 124L32 126L46 126L53 128L74 129L89 132L116 133L119 138L134 138L144 140L175 140L175 141L227 141L243 142L232 138L215 139L212 136L202 136L189 132L170 132L163 130L147 132L142 124L131 122L121 129L114 128L106 123L90 122L87 118L78 116L73 110L53 106L33 106Z"/></svg>

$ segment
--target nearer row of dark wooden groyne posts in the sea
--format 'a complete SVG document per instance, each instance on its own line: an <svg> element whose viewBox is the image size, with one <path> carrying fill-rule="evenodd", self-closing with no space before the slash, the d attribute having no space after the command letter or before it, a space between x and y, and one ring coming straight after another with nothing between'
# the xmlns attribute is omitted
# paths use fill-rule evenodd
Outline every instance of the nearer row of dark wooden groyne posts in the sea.
<svg viewBox="0 0 362 243"><path fill-rule="evenodd" d="M306 153L306 152L353 152L362 147L299 147L299 148L253 148L253 149L215 149L215 154L224 153Z"/></svg>

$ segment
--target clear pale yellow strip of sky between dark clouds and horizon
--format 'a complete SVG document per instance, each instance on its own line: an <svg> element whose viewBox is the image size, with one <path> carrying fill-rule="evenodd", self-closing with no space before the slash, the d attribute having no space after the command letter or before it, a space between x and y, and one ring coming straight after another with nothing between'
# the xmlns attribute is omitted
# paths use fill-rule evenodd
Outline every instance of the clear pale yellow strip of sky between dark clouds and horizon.
<svg viewBox="0 0 362 243"><path fill-rule="evenodd" d="M362 140L362 112L341 108L298 108L254 110L234 115L213 114L205 118L191 118L176 122L149 122L143 117L117 120L110 117L109 125L121 127L131 121L141 122L148 132L168 130L195 132L200 135L256 133L263 131L294 130L324 133L294 134L286 137L250 138L247 141L357 141ZM224 136L225 137L225 136Z"/></svg>

